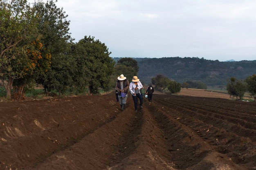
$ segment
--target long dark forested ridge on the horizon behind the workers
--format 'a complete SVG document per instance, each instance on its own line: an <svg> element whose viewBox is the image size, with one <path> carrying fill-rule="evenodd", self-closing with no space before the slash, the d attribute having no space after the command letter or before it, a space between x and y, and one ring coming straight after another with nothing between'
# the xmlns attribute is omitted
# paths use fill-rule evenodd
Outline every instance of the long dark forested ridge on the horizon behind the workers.
<svg viewBox="0 0 256 170"><path fill-rule="evenodd" d="M113 58L116 62L120 58ZM162 74L177 82L201 81L207 86L226 86L227 79L245 79L256 74L256 60L219 62L198 57L133 58L138 62L138 77L144 84Z"/></svg>

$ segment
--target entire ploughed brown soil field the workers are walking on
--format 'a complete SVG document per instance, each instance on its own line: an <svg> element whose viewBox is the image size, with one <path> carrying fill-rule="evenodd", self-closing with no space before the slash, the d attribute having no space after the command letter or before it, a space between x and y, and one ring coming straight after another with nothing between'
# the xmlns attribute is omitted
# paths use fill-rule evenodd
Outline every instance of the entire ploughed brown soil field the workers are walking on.
<svg viewBox="0 0 256 170"><path fill-rule="evenodd" d="M256 169L256 102L183 90L1 102L0 170Z"/></svg>

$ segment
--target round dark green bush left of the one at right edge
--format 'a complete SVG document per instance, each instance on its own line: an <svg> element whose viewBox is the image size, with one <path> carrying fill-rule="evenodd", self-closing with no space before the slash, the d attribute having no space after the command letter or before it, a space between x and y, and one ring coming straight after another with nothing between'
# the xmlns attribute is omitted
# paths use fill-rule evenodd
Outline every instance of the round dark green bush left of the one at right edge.
<svg viewBox="0 0 256 170"><path fill-rule="evenodd" d="M227 79L227 91L230 96L236 97L241 100L247 90L246 84L242 80L238 80L235 77Z"/></svg>

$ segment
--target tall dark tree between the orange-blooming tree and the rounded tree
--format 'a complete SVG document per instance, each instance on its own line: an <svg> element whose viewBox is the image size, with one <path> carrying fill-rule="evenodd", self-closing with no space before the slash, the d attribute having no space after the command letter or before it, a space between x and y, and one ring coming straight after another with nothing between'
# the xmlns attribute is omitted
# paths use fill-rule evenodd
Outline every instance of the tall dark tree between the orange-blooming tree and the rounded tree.
<svg viewBox="0 0 256 170"><path fill-rule="evenodd" d="M67 20L68 15L65 14L63 8L56 6L56 2L56 0L47 0L45 3L42 1L34 2L33 9L40 21L38 22L38 30L42 35L41 40L52 57L51 68L47 74L39 74L36 82L43 84L47 91L56 89L60 94L73 81L73 79L65 79L64 77L70 77L70 73L76 69L76 64L70 64L74 61L72 58L68 58L72 57L71 54L67 55L70 53L73 40L69 33L70 21ZM70 68L65 68L66 66ZM65 71L70 71L70 73Z"/></svg>

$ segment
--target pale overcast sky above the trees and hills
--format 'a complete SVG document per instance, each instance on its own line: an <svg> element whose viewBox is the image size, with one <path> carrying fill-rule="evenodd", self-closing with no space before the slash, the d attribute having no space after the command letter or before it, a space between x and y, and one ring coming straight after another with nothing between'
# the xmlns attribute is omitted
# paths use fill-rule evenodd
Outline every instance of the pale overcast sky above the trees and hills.
<svg viewBox="0 0 256 170"><path fill-rule="evenodd" d="M256 60L256 0L58 0L75 42L111 57Z"/></svg>

